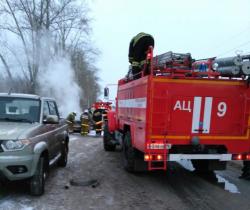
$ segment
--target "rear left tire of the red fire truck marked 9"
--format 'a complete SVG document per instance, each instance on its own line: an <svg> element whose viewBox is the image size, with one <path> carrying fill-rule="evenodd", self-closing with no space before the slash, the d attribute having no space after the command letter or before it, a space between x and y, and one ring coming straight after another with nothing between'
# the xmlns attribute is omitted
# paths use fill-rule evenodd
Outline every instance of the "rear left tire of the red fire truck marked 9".
<svg viewBox="0 0 250 210"><path fill-rule="evenodd" d="M136 151L131 145L131 134L130 131L125 133L123 139L123 166L128 172L135 172L135 161L136 161Z"/></svg>

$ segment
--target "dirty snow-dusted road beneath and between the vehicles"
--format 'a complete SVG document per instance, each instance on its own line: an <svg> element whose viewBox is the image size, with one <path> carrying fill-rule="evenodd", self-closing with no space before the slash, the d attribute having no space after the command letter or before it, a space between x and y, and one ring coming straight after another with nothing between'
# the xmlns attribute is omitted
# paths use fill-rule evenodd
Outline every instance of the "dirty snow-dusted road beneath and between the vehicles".
<svg viewBox="0 0 250 210"><path fill-rule="evenodd" d="M68 165L52 168L45 195L32 197L25 184L11 183L0 189L0 209L250 209L250 181L238 179L240 165L206 177L188 162L181 164L189 170L171 164L167 173L134 175L123 170L120 156L104 152L101 138L71 135ZM71 186L70 179L97 179L100 185Z"/></svg>

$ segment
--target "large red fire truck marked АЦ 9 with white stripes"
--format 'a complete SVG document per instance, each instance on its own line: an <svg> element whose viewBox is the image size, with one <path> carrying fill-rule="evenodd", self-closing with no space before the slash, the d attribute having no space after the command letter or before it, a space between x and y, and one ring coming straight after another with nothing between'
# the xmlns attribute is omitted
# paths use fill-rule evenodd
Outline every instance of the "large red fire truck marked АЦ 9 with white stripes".
<svg viewBox="0 0 250 210"><path fill-rule="evenodd" d="M210 59L210 68L198 72L190 54L153 57L150 48L141 78L118 82L104 149L122 145L124 168L130 172L167 170L169 161L183 159L198 171L224 170L227 161L250 160L250 72L221 77L223 69L216 69L230 66L230 59Z"/></svg>

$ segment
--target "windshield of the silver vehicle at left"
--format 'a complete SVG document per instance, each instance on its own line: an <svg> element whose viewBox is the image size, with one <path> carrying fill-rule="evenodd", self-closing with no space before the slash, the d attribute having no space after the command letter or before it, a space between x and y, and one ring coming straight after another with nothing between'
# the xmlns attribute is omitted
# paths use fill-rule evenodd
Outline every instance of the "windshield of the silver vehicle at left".
<svg viewBox="0 0 250 210"><path fill-rule="evenodd" d="M39 122L40 101L36 99L0 97L0 121Z"/></svg>

